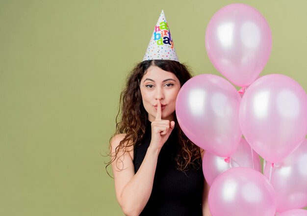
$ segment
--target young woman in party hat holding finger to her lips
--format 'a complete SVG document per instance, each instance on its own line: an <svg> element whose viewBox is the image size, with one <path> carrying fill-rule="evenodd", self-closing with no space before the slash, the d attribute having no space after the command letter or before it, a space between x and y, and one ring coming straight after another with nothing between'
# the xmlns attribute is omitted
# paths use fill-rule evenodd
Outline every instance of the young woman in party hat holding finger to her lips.
<svg viewBox="0 0 307 216"><path fill-rule="evenodd" d="M203 151L183 134L175 112L190 78L162 11L121 94L121 118L110 140L116 196L127 216L210 216Z"/></svg>

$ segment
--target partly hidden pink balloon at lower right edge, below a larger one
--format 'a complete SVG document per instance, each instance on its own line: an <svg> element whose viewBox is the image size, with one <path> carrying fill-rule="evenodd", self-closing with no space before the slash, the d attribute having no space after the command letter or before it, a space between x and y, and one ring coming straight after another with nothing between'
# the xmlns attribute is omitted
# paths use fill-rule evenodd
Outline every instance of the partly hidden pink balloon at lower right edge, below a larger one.
<svg viewBox="0 0 307 216"><path fill-rule="evenodd" d="M307 206L307 139L283 161L266 163L264 175L277 194L277 211Z"/></svg>

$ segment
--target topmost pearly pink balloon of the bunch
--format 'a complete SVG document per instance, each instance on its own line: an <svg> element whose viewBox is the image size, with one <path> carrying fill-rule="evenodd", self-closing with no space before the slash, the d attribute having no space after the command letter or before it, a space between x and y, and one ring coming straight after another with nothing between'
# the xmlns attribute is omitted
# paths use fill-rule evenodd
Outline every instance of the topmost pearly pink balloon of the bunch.
<svg viewBox="0 0 307 216"><path fill-rule="evenodd" d="M271 30L255 8L229 4L211 18L205 46L210 61L221 74L237 86L248 86L269 59Z"/></svg>

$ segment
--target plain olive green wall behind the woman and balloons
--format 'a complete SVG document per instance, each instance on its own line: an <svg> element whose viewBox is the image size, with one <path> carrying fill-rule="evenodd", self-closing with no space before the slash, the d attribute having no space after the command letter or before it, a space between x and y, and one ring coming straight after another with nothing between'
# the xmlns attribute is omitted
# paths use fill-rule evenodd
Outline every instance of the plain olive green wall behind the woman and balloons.
<svg viewBox="0 0 307 216"><path fill-rule="evenodd" d="M307 90L307 2L241 0L273 34L263 73ZM181 62L219 75L210 17L230 0L0 0L0 215L121 216L102 157L127 72L162 9Z"/></svg>

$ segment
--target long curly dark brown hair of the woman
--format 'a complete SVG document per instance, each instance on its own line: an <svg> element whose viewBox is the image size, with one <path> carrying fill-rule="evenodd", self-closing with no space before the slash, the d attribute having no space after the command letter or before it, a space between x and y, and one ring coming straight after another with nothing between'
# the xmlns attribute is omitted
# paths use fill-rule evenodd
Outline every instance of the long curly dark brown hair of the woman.
<svg viewBox="0 0 307 216"><path fill-rule="evenodd" d="M119 151L126 152L128 147L135 147L141 142L145 134L148 113L142 103L139 81L150 66L157 66L164 71L174 73L180 81L180 86L192 78L187 66L173 60L146 60L138 63L133 68L128 75L127 85L120 96L120 108L116 116L116 132L110 140L118 134L126 134L126 136L115 149L115 155L110 153L112 159L107 163L106 167L114 160L120 160L116 157ZM118 121L118 119L120 120ZM188 170L191 165L196 169L201 168L200 148L184 135L178 124L176 114L174 121L178 130L179 140L179 151L175 157L177 168L181 171Z"/></svg>

